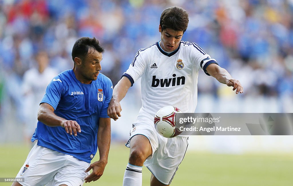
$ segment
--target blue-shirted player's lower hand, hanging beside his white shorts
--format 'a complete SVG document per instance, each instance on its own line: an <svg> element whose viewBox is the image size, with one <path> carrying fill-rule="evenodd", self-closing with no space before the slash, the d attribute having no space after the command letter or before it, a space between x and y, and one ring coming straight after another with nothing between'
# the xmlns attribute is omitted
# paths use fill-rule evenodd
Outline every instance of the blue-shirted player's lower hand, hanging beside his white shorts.
<svg viewBox="0 0 293 186"><path fill-rule="evenodd" d="M84 178L84 180L86 182L98 180L103 175L106 164L107 163L101 160L92 163L84 172L87 173L91 169L93 169L93 172L90 175L88 175L86 178Z"/></svg>

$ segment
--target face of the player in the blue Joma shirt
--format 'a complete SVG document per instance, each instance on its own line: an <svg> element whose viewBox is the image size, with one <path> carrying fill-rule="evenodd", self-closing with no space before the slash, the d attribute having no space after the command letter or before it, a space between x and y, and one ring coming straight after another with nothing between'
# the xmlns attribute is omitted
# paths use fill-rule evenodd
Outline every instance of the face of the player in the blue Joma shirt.
<svg viewBox="0 0 293 186"><path fill-rule="evenodd" d="M80 65L81 76L85 81L91 82L97 80L99 71L102 70L100 64L102 57L102 53L97 50L93 48L88 49L88 54Z"/></svg>

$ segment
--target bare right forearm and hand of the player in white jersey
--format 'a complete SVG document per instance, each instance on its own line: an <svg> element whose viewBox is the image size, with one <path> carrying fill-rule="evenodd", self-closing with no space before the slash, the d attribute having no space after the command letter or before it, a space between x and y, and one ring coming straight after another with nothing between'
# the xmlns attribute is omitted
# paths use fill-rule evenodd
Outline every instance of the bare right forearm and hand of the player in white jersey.
<svg viewBox="0 0 293 186"><path fill-rule="evenodd" d="M206 71L219 82L226 84L228 87L233 87L233 90L236 90L236 94L243 93L243 87L241 83L238 80L232 78L226 69L212 63L207 66Z"/></svg>

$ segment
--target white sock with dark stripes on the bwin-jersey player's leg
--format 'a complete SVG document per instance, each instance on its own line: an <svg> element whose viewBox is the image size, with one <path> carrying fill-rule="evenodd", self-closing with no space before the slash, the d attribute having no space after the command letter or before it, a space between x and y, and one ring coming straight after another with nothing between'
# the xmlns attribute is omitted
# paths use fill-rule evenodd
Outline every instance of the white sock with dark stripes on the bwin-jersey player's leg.
<svg viewBox="0 0 293 186"><path fill-rule="evenodd" d="M128 163L123 177L123 186L142 186L142 167Z"/></svg>

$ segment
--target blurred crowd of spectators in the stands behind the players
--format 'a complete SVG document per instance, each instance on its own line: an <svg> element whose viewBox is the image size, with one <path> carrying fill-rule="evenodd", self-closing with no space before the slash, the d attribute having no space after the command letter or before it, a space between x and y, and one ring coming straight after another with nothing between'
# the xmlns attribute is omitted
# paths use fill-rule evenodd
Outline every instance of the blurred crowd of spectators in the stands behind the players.
<svg viewBox="0 0 293 186"><path fill-rule="evenodd" d="M7 100L16 109L28 109L23 106L25 73L39 69L40 53L49 60L51 72L71 69L71 49L79 37L96 37L102 43L101 72L115 85L137 50L160 40L161 12L175 5L189 13L183 40L200 45L239 79L242 97L292 99L292 0L2 0L2 110ZM232 92L201 74L198 87L199 95L215 98Z"/></svg>

